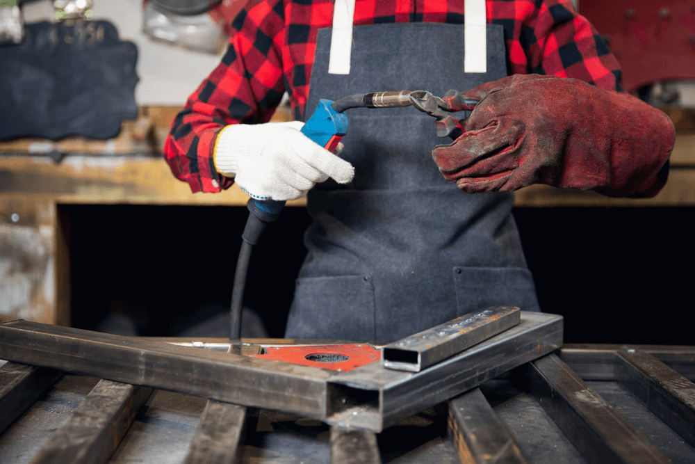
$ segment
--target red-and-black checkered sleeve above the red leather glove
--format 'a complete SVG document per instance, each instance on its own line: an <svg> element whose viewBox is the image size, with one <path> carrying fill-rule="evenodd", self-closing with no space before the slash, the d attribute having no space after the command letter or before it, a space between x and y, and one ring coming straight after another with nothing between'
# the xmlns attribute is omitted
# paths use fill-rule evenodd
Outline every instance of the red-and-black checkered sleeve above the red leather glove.
<svg viewBox="0 0 695 464"><path fill-rule="evenodd" d="M491 22L505 27L512 74L573 77L623 91L618 61L570 0L493 0Z"/></svg>

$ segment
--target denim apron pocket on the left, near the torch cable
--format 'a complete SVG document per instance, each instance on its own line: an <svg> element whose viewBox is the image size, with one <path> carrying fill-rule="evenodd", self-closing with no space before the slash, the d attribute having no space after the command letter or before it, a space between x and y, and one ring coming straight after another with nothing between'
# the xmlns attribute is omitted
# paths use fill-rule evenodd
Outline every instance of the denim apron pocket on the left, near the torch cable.
<svg viewBox="0 0 695 464"><path fill-rule="evenodd" d="M285 337L375 339L372 278L339 275L297 279Z"/></svg>

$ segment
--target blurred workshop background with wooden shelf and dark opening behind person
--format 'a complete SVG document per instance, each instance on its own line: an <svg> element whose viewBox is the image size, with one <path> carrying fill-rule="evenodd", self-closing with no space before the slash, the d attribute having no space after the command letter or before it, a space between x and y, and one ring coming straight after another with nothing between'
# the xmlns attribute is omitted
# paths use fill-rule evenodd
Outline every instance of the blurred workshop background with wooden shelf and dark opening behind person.
<svg viewBox="0 0 695 464"><path fill-rule="evenodd" d="M162 12L155 0L24 1L21 16L6 3L0 321L224 336L247 197L236 186L190 193L161 150L174 115L220 61L218 24L245 0L197 15ZM662 3L578 8L616 53L626 88L676 125L664 190L639 200L549 186L516 195L541 308L565 317L565 342L694 344L695 5ZM72 19L80 15L88 19ZM47 54L49 42L59 54ZM254 247L245 291L256 330L271 337L284 332L306 253L309 216L302 200L291 205Z"/></svg>

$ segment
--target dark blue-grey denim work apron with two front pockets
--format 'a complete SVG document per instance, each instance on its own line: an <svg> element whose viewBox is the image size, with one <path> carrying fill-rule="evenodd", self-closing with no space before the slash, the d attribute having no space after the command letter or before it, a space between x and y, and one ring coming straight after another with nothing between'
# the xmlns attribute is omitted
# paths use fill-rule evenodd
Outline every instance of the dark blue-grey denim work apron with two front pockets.
<svg viewBox="0 0 695 464"><path fill-rule="evenodd" d="M351 72L327 74L318 31L308 118L318 99L382 90L467 90L505 77L502 26L487 26L487 70L464 73L458 24L353 29ZM347 110L341 157L354 180L309 191L309 254L286 337L399 339L491 305L539 310L511 211L512 193L471 195L441 176L434 118L412 107ZM459 118L463 118L459 113Z"/></svg>

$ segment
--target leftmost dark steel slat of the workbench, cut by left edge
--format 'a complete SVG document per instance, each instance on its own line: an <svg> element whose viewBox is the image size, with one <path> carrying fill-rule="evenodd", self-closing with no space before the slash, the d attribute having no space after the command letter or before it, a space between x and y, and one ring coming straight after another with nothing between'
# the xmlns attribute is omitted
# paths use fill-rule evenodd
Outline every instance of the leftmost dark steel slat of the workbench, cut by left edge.
<svg viewBox="0 0 695 464"><path fill-rule="evenodd" d="M0 367L0 435L61 377L54 369L15 362Z"/></svg>

